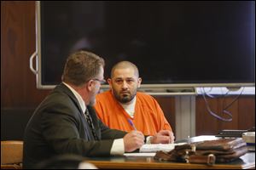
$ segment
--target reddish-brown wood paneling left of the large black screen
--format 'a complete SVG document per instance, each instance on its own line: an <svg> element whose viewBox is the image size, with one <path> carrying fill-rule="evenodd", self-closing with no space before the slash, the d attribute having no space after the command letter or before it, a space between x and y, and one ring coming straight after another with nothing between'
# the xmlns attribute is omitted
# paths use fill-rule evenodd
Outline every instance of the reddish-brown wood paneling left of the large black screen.
<svg viewBox="0 0 256 170"><path fill-rule="evenodd" d="M35 2L1 1L1 107L36 107L49 93L29 69L35 29Z"/></svg>

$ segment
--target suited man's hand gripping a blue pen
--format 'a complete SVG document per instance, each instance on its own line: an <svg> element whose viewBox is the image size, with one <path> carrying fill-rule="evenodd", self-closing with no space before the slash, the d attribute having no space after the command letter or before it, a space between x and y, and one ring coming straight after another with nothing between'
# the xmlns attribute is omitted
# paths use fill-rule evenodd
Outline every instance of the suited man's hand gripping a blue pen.
<svg viewBox="0 0 256 170"><path fill-rule="evenodd" d="M131 152L142 147L144 144L144 138L143 133L139 131L131 131L130 133L125 134L125 152Z"/></svg>

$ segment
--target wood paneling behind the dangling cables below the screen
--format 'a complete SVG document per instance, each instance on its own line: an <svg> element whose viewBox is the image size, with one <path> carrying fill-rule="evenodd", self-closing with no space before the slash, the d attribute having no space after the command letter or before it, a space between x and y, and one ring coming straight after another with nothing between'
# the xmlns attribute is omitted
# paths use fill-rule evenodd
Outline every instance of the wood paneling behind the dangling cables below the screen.
<svg viewBox="0 0 256 170"><path fill-rule="evenodd" d="M224 108L229 105L236 96L225 98L207 99L212 112L218 116L229 118L224 114ZM227 111L232 115L231 122L224 122L212 116L207 111L207 105L201 96L196 98L196 135L217 134L223 129L249 129L255 126L255 96L240 96Z"/></svg>

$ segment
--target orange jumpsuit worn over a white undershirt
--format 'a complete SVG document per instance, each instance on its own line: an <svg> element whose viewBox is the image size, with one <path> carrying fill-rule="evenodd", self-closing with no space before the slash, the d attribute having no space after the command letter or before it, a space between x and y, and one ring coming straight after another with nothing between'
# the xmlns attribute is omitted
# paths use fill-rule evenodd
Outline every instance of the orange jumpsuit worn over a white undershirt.
<svg viewBox="0 0 256 170"><path fill-rule="evenodd" d="M137 92L135 114L133 118L114 98L111 90L96 95L96 113L108 127L130 132L133 130L128 119L134 123L138 131L153 136L160 130L171 130L163 111L157 101L148 94Z"/></svg>

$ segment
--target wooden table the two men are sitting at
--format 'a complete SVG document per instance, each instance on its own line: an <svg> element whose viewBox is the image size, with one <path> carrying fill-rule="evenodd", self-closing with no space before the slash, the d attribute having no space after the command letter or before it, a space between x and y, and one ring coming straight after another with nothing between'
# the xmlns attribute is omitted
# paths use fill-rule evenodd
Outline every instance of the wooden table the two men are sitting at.
<svg viewBox="0 0 256 170"><path fill-rule="evenodd" d="M214 139L214 136L199 136L189 139L190 142L201 141L201 139ZM185 142L181 140L180 142ZM213 166L205 164L181 163L173 161L158 161L154 157L134 157L134 156L112 156L90 158L88 162L98 168L110 169L255 169L255 152L248 152L236 161L230 163L216 163Z"/></svg>

